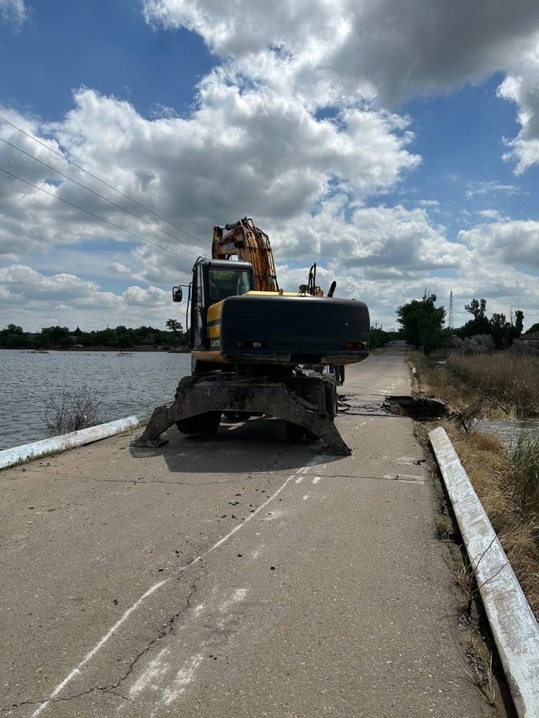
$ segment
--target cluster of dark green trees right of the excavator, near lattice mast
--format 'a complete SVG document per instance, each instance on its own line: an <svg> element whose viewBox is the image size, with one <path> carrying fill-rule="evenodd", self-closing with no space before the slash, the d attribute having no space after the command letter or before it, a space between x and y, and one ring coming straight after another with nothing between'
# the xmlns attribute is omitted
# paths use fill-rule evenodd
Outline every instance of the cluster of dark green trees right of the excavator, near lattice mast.
<svg viewBox="0 0 539 718"><path fill-rule="evenodd" d="M456 329L444 328L446 321L445 307L436 307L436 294L426 292L422 299L413 299L397 308L397 322L402 327L404 338L414 347L423 347L425 355L443 346L449 347L451 342L468 346L472 337L478 345L487 349L508 349L522 335L524 312L517 309L507 321L505 314L494 312L487 316L487 300L472 299L464 309L471 314L471 319ZM528 332L537 330L533 325Z"/></svg>

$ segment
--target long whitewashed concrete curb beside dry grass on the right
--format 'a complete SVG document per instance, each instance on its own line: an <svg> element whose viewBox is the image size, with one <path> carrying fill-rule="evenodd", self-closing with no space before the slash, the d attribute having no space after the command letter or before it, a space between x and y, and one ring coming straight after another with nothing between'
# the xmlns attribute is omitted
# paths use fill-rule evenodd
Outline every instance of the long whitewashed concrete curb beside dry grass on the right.
<svg viewBox="0 0 539 718"><path fill-rule="evenodd" d="M520 718L539 716L539 625L453 444L429 434Z"/></svg>

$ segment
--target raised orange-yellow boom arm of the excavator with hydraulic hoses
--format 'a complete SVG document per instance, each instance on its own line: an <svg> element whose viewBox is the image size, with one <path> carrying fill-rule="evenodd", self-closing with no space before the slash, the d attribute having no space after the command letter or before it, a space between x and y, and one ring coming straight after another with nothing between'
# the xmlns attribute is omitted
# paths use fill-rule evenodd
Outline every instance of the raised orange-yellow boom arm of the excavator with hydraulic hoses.
<svg viewBox="0 0 539 718"><path fill-rule="evenodd" d="M239 222L224 227L213 227L211 246L213 259L229 259L250 262L254 273L254 289L258 292L278 292L277 274L270 238L252 219L244 217Z"/></svg>

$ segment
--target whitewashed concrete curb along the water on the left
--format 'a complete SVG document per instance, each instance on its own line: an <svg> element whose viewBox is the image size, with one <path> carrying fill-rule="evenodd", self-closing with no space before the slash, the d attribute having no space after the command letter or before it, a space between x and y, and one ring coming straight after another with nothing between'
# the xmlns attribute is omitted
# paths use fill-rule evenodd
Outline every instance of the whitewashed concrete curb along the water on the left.
<svg viewBox="0 0 539 718"><path fill-rule="evenodd" d="M137 419L137 416L126 416L125 419L109 421L106 424L98 424L98 426L89 426L88 429L62 434L60 437L51 437L50 439L42 439L40 442L4 449L4 451L0 451L0 469L6 469L14 464L32 459L39 459L47 454L56 454L68 449L74 449L75 447L83 446L83 444L96 442L99 439L106 439L129 429L137 429L140 424L141 422Z"/></svg>

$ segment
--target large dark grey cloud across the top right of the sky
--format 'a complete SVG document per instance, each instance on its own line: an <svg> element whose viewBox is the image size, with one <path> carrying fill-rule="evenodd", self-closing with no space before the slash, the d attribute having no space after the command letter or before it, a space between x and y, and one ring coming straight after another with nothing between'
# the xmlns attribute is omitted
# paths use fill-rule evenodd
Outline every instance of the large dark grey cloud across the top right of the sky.
<svg viewBox="0 0 539 718"><path fill-rule="evenodd" d="M311 80L313 92L326 85L346 97L370 87L384 101L503 69L539 31L535 0L304 0L271 12L264 0L145 0L144 14L153 24L197 32L243 67L256 61L252 76L271 75L277 65Z"/></svg>

